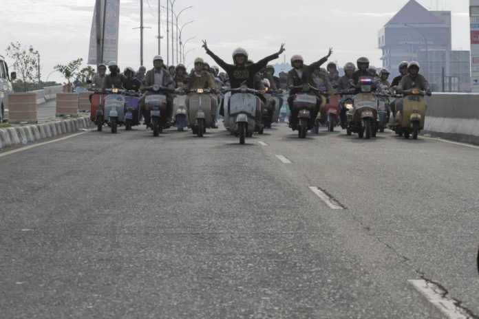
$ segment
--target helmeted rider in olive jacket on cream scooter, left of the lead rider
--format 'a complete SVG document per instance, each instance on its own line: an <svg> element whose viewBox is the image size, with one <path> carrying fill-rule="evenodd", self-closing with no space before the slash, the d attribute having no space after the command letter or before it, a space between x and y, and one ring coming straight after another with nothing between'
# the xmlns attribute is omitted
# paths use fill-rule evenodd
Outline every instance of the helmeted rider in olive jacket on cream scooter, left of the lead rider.
<svg viewBox="0 0 479 319"><path fill-rule="evenodd" d="M204 61L202 58L195 58L195 71L190 74L185 82L184 89L216 89L213 75L204 69ZM218 106L217 98L214 94L210 94L211 98L211 127L217 129L215 124L216 109ZM187 109L189 111L189 97L187 98Z"/></svg>

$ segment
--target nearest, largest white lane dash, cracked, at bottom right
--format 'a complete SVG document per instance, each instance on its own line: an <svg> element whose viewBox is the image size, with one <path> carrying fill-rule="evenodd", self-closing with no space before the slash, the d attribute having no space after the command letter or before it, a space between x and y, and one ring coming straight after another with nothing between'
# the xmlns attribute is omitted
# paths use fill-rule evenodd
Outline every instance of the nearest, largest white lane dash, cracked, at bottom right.
<svg viewBox="0 0 479 319"><path fill-rule="evenodd" d="M443 297L443 289L440 289L437 285L433 283L428 283L424 279L407 281L416 288L418 292L423 294L430 303L438 307L438 309L445 314L448 318L451 319L468 319L469 316L466 316L460 312L460 309L456 307L454 302L446 297Z"/></svg>

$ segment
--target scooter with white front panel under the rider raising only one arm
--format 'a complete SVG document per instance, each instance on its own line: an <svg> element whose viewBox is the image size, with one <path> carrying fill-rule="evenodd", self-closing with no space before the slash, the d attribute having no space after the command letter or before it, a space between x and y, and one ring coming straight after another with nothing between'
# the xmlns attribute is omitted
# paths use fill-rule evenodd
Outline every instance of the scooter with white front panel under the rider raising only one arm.
<svg viewBox="0 0 479 319"><path fill-rule="evenodd" d="M304 83L304 85L301 86L292 87L292 89L301 89L301 91L295 94L292 100L292 107L295 110L295 113L297 113L297 124L296 126L292 127L292 130L298 130L299 138L306 138L308 130L315 126L316 119L314 118L313 114L315 113L318 97L314 91L320 90L315 89L308 83Z"/></svg>

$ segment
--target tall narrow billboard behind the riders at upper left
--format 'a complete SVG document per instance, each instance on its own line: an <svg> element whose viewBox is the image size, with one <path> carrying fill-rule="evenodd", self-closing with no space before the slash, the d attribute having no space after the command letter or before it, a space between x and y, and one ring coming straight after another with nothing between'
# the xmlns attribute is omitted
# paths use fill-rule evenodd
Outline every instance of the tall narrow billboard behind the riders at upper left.
<svg viewBox="0 0 479 319"><path fill-rule="evenodd" d="M103 61L118 61L118 29L120 24L120 0L100 0L101 23L103 28L103 8L106 3L105 38L103 39ZM96 8L93 12L92 32L90 33L88 64L96 65ZM99 64L99 63L98 63Z"/></svg>

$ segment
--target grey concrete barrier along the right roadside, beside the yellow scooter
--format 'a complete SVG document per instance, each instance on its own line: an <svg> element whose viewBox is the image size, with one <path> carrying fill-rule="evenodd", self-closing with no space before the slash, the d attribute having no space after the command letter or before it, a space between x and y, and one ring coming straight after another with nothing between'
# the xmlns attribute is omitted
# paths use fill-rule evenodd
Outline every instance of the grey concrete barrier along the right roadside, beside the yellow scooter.
<svg viewBox="0 0 479 319"><path fill-rule="evenodd" d="M426 119L421 133L479 144L479 94L434 93L426 101Z"/></svg>

